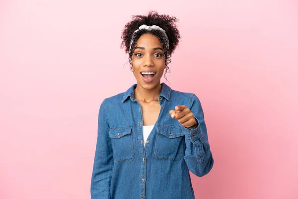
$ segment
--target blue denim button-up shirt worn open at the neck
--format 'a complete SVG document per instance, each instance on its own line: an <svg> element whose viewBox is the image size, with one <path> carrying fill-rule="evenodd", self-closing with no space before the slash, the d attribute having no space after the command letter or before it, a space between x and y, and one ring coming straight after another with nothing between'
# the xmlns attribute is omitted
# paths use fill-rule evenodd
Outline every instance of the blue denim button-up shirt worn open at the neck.
<svg viewBox="0 0 298 199"><path fill-rule="evenodd" d="M160 113L148 140L143 140L136 86L100 105L91 199L194 199L189 171L202 177L213 167L198 97L161 83ZM175 105L186 105L198 127L186 128L173 119L169 111Z"/></svg>

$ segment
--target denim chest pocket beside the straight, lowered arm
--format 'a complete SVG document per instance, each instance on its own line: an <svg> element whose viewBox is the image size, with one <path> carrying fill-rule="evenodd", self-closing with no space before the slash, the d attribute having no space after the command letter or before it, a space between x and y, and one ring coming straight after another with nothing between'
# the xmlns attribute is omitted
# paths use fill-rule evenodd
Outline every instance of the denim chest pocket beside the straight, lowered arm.
<svg viewBox="0 0 298 199"><path fill-rule="evenodd" d="M132 126L110 128L114 162L132 161L135 158Z"/></svg>

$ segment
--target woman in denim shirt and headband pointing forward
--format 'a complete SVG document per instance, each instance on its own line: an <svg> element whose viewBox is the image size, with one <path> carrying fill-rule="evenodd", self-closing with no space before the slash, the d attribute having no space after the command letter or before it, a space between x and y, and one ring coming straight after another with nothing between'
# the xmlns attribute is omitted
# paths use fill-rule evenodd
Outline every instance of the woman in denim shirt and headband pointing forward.
<svg viewBox="0 0 298 199"><path fill-rule="evenodd" d="M176 21L150 12L125 25L137 84L100 105L92 199L194 199L189 171L213 167L198 97L160 84L180 39Z"/></svg>

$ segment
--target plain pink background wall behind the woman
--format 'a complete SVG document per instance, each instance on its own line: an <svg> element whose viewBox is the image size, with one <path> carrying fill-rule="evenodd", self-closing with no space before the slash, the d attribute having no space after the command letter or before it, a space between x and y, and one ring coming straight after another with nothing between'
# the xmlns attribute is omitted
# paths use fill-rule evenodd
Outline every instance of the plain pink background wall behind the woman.
<svg viewBox="0 0 298 199"><path fill-rule="evenodd" d="M90 198L99 105L136 83L121 30L149 10L180 19L167 84L205 112L196 198L298 199L296 0L1 0L0 199Z"/></svg>

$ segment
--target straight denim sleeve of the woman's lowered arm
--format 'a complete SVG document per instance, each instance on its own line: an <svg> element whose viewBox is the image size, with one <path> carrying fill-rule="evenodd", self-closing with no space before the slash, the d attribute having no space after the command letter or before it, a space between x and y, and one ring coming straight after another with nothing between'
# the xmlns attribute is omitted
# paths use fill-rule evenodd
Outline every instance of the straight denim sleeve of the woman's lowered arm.
<svg viewBox="0 0 298 199"><path fill-rule="evenodd" d="M114 160L104 101L100 105L98 114L97 142L90 189L91 199L110 198L110 183Z"/></svg>

